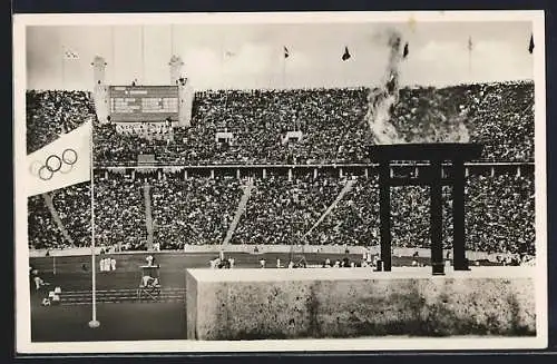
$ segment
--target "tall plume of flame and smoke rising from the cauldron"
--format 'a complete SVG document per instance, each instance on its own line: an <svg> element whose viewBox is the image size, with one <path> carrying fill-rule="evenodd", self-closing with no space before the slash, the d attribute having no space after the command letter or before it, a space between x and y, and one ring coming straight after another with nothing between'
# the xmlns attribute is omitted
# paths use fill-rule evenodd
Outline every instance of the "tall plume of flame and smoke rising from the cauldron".
<svg viewBox="0 0 557 364"><path fill-rule="evenodd" d="M382 37L380 37L382 38ZM365 120L371 129L375 144L400 144L404 140L391 124L391 111L399 101L399 65L402 37L398 31L387 33L389 61L380 88L374 88L368 97Z"/></svg>

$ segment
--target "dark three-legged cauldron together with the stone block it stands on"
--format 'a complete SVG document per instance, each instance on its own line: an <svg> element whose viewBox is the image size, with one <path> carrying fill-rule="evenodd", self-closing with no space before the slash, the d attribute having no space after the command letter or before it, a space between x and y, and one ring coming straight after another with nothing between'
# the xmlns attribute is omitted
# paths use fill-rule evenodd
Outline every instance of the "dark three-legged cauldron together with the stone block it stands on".
<svg viewBox="0 0 557 364"><path fill-rule="evenodd" d="M189 340L372 337L385 335L471 337L536 335L534 270L468 268L465 258L465 161L473 144L369 147L380 170L382 270L187 269ZM416 161L419 173L395 177L397 161ZM426 164L423 164L426 161ZM427 185L431 190L431 277L423 268L391 270L390 186ZM441 187L453 188L455 269L442 264ZM467 270L467 272L462 272Z"/></svg>

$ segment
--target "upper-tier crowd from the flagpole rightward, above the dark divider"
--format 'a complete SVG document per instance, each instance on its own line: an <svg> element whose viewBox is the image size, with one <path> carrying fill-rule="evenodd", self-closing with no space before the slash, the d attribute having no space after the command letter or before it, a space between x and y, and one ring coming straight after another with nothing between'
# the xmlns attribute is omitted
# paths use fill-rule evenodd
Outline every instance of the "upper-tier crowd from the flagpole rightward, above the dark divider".
<svg viewBox="0 0 557 364"><path fill-rule="evenodd" d="M149 136L99 125L96 163L134 165L141 154L178 165L367 161L365 148L373 142L368 94L367 88L197 92L192 127L175 127L164 137L159 130ZM482 160L534 159L532 82L403 88L390 121L407 142L481 142ZM233 138L218 141L219 131ZM303 137L289 141L287 131Z"/></svg>

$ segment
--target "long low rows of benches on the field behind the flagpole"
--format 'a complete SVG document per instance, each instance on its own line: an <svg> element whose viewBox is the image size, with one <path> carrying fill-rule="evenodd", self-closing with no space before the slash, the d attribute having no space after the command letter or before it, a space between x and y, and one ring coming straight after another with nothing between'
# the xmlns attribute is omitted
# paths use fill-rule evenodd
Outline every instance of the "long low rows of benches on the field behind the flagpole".
<svg viewBox="0 0 557 364"><path fill-rule="evenodd" d="M120 288L120 289L99 289L96 292L97 304L102 303L123 303L123 302L140 302L140 303L179 303L185 301L185 288L162 288L160 294L153 299L146 294L141 294L138 298L137 288ZM60 294L60 305L91 305L91 291L67 291Z"/></svg>

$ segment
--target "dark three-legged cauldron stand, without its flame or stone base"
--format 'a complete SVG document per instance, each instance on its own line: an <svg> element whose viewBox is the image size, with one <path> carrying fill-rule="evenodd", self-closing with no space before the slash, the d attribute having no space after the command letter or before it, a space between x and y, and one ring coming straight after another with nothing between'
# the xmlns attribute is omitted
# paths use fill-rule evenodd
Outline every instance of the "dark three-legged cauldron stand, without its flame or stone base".
<svg viewBox="0 0 557 364"><path fill-rule="evenodd" d="M431 266L433 275L444 274L442 250L442 186L452 187L453 266L468 270L465 256L465 161L478 159L483 146L478 144L395 144L369 147L370 159L379 164L380 232L382 270L391 270L391 186L424 185L430 187ZM391 174L393 164L426 164L412 177Z"/></svg>

